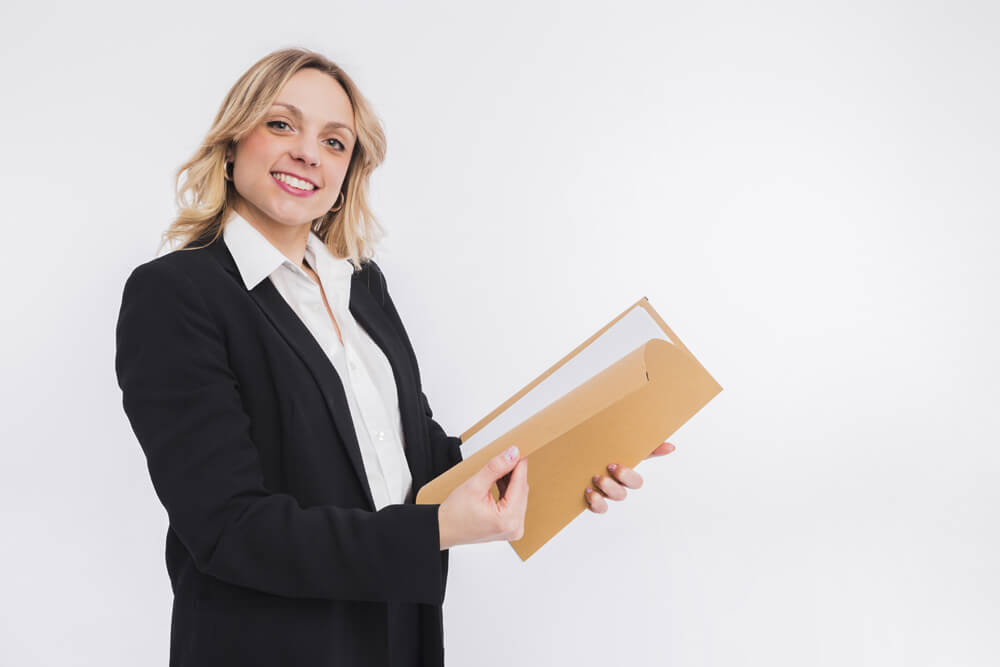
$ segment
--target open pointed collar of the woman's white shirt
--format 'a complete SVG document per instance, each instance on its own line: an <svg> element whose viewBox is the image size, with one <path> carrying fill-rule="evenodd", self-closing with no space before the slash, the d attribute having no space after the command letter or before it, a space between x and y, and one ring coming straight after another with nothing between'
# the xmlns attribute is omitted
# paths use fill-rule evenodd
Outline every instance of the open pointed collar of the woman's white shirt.
<svg viewBox="0 0 1000 667"><path fill-rule="evenodd" d="M301 267L296 266L280 250L271 245L271 242L257 231L256 227L247 222L246 218L235 210L230 211L229 220L222 230L222 235L233 260L236 262L236 268L239 269L240 276L243 278L243 284L248 290L252 290L282 265L286 265L291 271L302 274L303 278L309 279ZM347 259L334 257L322 239L312 230L309 231L309 236L306 239L305 257L324 283L328 278L334 280L349 279L354 272L354 265Z"/></svg>

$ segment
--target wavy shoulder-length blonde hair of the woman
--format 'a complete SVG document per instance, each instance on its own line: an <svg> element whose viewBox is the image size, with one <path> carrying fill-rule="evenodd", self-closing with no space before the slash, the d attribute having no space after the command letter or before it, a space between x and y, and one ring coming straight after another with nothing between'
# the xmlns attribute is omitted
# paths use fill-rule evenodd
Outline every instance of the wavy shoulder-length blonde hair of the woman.
<svg viewBox="0 0 1000 667"><path fill-rule="evenodd" d="M360 89L336 63L302 48L275 51L258 60L233 85L222 101L215 121L195 154L175 175L177 218L163 233L168 242L189 246L215 241L229 218L237 192L225 178L226 151L263 120L285 83L299 70L311 67L332 76L347 93L354 111L357 140L344 176L343 205L312 221L312 231L337 257L346 257L361 269L372 257L385 231L368 202L368 181L385 158L385 133ZM181 185L181 176L185 175ZM341 198L338 197L338 201ZM336 208L336 204L334 204ZM194 250L182 247L181 250Z"/></svg>

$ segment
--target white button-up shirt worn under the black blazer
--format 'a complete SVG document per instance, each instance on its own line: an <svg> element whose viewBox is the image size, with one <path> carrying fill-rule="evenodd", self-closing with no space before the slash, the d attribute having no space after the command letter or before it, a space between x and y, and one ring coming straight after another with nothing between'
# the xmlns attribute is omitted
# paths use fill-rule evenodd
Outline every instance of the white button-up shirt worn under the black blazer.
<svg viewBox="0 0 1000 667"><path fill-rule="evenodd" d="M338 258L310 230L306 263L319 276L344 344L323 305L319 285L235 211L223 238L248 290L270 278L319 343L344 385L375 509L402 504L413 479L403 451L403 427L392 366L348 309L354 265Z"/></svg>

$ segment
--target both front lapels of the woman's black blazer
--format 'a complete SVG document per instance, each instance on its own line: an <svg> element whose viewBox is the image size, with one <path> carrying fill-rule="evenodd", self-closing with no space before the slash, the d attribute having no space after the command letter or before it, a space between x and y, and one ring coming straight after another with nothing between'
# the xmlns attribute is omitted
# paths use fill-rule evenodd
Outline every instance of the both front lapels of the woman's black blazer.
<svg viewBox="0 0 1000 667"><path fill-rule="evenodd" d="M239 275L239 270L236 268L236 262L221 236L208 246L208 250L246 289L243 279ZM421 413L416 391L416 378L413 376L413 369L410 367L407 352L402 342L392 332L392 323L367 288L360 283L358 276L359 273L355 273L351 279L349 309L372 340L382 349L393 369L399 398L400 419L403 425L403 435L406 439L406 460L413 478L413 488L406 500L406 502L411 502L416 495L416 490L427 481L427 471L430 469L430 463L426 458L427 447L423 441L422 423L419 421ZM323 393L327 410L340 433L344 446L347 448L347 454L354 471L358 479L361 480L369 508L374 511L375 500L372 498L371 486L368 482L368 476L365 474L361 447L354 430L354 422L351 419L344 385L336 368L306 325L275 288L274 283L270 280L262 280L249 293L275 329L302 359L316 380L316 384Z"/></svg>

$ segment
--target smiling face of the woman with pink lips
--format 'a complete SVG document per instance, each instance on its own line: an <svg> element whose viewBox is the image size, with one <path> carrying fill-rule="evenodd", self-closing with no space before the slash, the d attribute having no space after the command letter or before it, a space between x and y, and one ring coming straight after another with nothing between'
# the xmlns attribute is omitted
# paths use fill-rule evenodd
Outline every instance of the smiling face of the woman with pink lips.
<svg viewBox="0 0 1000 667"><path fill-rule="evenodd" d="M237 212L262 231L304 237L312 220L343 204L355 132L340 84L315 69L296 72L230 156Z"/></svg>

